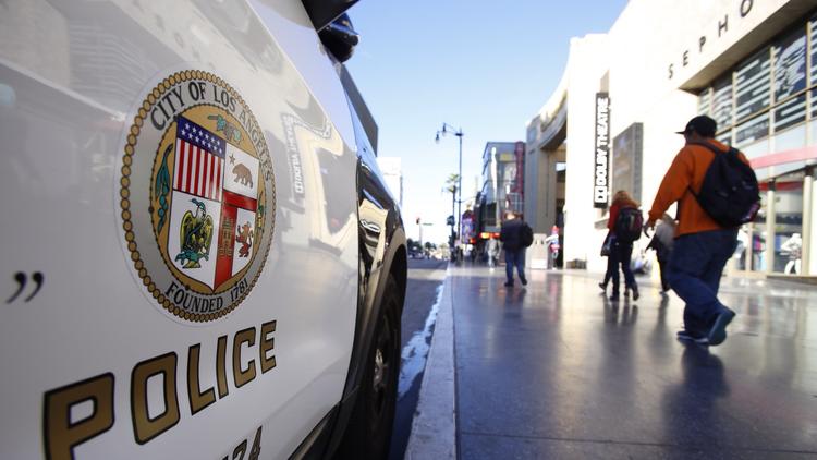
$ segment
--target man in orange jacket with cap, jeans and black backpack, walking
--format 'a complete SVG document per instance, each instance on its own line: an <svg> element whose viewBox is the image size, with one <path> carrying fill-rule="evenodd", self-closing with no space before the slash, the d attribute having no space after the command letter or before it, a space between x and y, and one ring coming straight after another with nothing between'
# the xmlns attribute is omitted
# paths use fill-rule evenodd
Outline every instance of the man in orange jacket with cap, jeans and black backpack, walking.
<svg viewBox="0 0 817 460"><path fill-rule="evenodd" d="M679 132L686 143L664 174L647 221L653 228L678 203L668 274L669 285L686 302L678 338L711 346L727 339L735 316L718 300L723 266L737 244L737 227L759 208L757 179L746 157L716 141L716 121L706 116Z"/></svg>

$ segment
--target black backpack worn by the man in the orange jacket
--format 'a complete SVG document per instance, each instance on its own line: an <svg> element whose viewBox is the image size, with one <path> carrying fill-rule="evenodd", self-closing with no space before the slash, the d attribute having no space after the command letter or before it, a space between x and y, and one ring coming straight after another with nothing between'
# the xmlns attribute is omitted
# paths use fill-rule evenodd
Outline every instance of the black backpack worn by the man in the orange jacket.
<svg viewBox="0 0 817 460"><path fill-rule="evenodd" d="M708 143L696 143L715 154L695 199L722 227L735 228L755 219L760 209L760 189L751 166L737 156L737 149L719 150Z"/></svg>

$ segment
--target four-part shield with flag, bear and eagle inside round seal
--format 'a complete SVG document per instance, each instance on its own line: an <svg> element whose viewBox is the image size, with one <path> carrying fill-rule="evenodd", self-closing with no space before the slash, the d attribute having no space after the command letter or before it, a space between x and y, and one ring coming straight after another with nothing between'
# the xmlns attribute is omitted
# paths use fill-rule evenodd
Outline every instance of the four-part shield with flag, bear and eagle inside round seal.
<svg viewBox="0 0 817 460"><path fill-rule="evenodd" d="M217 289L253 259L258 159L187 118L176 120L168 255Z"/></svg>

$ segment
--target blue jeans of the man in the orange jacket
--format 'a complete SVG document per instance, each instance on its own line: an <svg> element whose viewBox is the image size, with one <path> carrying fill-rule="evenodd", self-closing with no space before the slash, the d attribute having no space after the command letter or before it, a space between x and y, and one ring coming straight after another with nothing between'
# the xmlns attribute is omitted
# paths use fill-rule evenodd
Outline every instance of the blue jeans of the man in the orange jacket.
<svg viewBox="0 0 817 460"><path fill-rule="evenodd" d="M706 332L725 306L718 300L723 266L737 246L737 230L711 230L675 240L667 279L686 302L684 327Z"/></svg>

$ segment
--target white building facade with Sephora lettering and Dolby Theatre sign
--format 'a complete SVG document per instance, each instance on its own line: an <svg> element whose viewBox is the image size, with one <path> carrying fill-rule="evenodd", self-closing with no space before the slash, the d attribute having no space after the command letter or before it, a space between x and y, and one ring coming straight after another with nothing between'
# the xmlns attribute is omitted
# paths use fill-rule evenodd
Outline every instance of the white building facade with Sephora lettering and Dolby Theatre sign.
<svg viewBox="0 0 817 460"><path fill-rule="evenodd" d="M683 146L675 132L702 113L761 183L763 210L729 269L816 276L814 0L632 0L607 34L572 39L559 87L527 125L528 221L547 228L562 206L566 266L603 270L610 196L626 190L646 213Z"/></svg>

